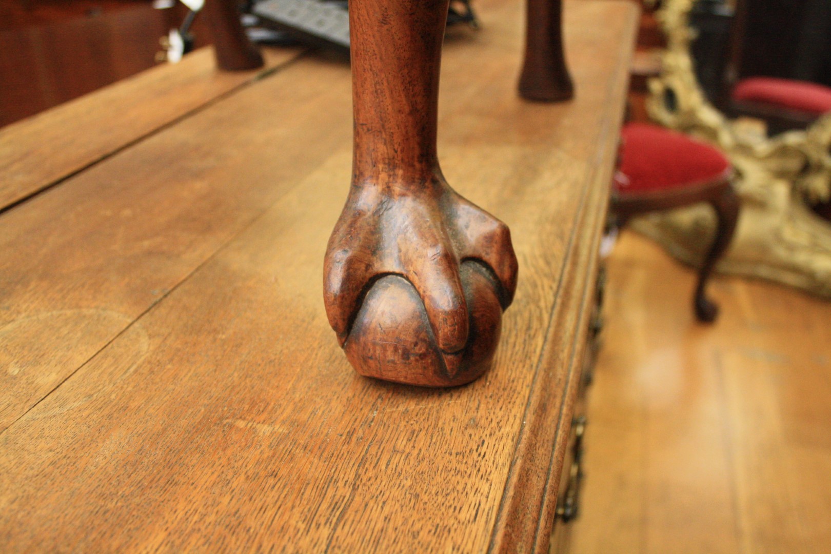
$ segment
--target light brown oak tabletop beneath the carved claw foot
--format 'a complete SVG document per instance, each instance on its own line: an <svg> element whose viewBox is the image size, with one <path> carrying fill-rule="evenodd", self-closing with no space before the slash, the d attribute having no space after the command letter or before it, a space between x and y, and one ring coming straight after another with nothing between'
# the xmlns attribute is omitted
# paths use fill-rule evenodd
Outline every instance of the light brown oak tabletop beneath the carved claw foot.
<svg viewBox="0 0 831 554"><path fill-rule="evenodd" d="M424 390L348 365L322 258L349 68L274 54L0 213L0 550L547 550L637 9L567 2L577 96L546 105L516 92L522 2L477 6L484 28L445 44L439 154L519 257L489 373ZM111 134L104 94L89 125L39 125Z"/></svg>

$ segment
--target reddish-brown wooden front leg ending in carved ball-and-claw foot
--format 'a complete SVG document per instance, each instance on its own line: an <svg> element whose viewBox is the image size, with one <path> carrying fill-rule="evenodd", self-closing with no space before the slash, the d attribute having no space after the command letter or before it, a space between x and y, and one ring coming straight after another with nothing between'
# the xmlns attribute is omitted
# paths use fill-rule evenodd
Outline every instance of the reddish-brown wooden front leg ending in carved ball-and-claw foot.
<svg viewBox="0 0 831 554"><path fill-rule="evenodd" d="M504 223L436 157L448 0L352 0L352 186L324 265L327 316L361 375L450 386L488 369L517 260Z"/></svg>

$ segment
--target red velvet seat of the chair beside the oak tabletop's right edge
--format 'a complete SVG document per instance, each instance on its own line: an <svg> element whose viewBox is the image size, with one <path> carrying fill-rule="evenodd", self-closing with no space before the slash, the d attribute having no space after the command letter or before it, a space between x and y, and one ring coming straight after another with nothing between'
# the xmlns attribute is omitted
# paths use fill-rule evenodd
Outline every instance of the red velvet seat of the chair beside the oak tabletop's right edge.
<svg viewBox="0 0 831 554"><path fill-rule="evenodd" d="M730 171L718 150L657 125L629 123L621 132L617 194L639 194L705 184Z"/></svg>

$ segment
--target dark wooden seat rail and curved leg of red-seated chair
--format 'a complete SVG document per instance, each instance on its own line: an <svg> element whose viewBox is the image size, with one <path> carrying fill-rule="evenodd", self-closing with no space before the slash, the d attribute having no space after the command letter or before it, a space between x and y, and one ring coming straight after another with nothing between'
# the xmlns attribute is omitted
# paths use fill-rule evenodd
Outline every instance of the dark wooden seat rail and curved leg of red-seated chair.
<svg viewBox="0 0 831 554"><path fill-rule="evenodd" d="M719 314L719 307L706 296L706 284L715 264L730 245L730 239L733 238L735 225L739 219L739 199L730 184L732 172L733 170L730 169L717 179L668 191L612 195L612 208L617 215L617 223L621 226L628 218L638 213L681 208L693 203L710 203L715 209L717 217L715 236L706 257L701 262L696 292L692 297L696 317L705 323L715 321Z"/></svg>

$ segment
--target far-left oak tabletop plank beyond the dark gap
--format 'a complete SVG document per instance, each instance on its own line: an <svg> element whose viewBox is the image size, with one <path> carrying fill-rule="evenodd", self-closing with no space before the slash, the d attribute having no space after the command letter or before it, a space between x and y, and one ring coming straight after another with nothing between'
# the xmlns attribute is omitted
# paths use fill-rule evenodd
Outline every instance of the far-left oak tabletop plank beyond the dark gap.
<svg viewBox="0 0 831 554"><path fill-rule="evenodd" d="M58 105L0 130L0 209L199 110L300 54L264 48L258 71L217 71L213 47Z"/></svg>

